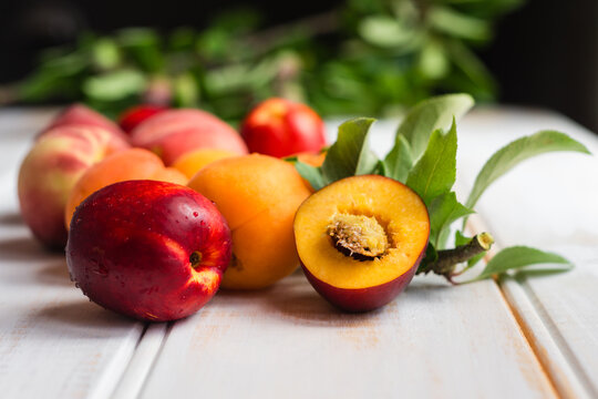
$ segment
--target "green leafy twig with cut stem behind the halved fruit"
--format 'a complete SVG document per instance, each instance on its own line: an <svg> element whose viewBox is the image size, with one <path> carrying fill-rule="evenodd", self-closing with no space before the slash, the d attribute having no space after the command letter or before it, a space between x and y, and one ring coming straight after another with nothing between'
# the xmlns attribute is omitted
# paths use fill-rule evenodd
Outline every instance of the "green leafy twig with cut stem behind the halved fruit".
<svg viewBox="0 0 598 399"><path fill-rule="evenodd" d="M462 204L453 191L456 177L456 117L472 105L473 99L467 94L433 98L415 105L396 130L394 146L383 160L378 158L368 145L369 129L374 120L349 120L339 126L338 140L329 149L321 167L300 162L296 162L296 167L316 190L360 174L381 174L406 184L427 206L431 224L426 253L416 273L434 273L452 284L460 284L454 278L474 267L491 249L494 238L487 232L467 237L462 229L456 229L454 247L450 248L448 237L456 222L463 219L464 227L485 190L534 155L557 151L589 154L586 146L560 132L542 131L520 137L489 157L480 171L467 201ZM527 269L537 264L560 266ZM570 262L557 254L514 246L496 254L477 277L461 283L477 282L509 270L559 273L571 267Z"/></svg>

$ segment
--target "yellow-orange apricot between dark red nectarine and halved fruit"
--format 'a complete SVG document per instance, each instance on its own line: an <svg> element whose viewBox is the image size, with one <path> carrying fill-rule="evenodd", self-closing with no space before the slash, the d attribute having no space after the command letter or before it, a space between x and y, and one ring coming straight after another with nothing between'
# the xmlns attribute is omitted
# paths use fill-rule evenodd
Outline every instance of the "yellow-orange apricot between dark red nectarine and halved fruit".
<svg viewBox="0 0 598 399"><path fill-rule="evenodd" d="M233 260L223 287L264 288L299 265L292 221L310 193L292 165L259 154L225 158L188 186L214 201L230 226Z"/></svg>

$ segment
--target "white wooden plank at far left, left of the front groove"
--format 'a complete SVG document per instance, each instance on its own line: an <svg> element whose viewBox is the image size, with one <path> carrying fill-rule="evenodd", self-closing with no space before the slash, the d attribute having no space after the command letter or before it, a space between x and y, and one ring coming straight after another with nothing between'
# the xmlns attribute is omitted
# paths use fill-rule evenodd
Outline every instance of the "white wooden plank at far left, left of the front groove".
<svg viewBox="0 0 598 399"><path fill-rule="evenodd" d="M64 256L48 254L31 237L18 214L16 186L35 129L3 136L6 115L0 113L1 397L106 398L143 325L91 304L69 280ZM11 131L19 131L14 123Z"/></svg>

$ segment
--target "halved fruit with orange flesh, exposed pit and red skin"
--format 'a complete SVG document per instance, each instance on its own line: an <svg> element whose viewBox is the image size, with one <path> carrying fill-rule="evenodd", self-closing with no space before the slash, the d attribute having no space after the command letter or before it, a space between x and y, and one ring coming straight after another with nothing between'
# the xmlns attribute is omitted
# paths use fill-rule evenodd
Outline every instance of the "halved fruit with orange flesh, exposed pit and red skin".
<svg viewBox="0 0 598 399"><path fill-rule="evenodd" d="M404 184L362 175L312 194L297 211L293 229L313 288L343 310L367 311L411 282L425 254L430 218Z"/></svg>

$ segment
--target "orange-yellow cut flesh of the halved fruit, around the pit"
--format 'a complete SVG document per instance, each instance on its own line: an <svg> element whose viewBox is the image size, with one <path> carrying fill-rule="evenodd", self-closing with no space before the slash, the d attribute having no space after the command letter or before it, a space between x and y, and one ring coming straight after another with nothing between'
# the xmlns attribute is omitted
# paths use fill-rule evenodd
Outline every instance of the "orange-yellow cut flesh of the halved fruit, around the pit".
<svg viewBox="0 0 598 399"><path fill-rule="evenodd" d="M334 247L329 234L337 215L374 218L389 248L371 260L358 260ZM410 270L427 244L430 221L421 198L403 184L382 176L338 181L311 195L295 218L299 257L319 280L344 289L369 288Z"/></svg>

